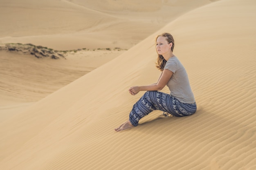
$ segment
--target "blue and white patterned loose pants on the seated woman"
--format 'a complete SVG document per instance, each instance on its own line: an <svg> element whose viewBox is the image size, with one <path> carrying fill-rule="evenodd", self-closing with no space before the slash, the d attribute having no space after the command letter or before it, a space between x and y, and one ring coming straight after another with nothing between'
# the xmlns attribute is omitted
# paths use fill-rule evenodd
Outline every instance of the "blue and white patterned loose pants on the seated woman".
<svg viewBox="0 0 256 170"><path fill-rule="evenodd" d="M129 119L131 124L138 126L139 120L153 110L162 110L173 116L182 117L195 113L196 104L182 103L175 97L159 91L147 91L132 107Z"/></svg>

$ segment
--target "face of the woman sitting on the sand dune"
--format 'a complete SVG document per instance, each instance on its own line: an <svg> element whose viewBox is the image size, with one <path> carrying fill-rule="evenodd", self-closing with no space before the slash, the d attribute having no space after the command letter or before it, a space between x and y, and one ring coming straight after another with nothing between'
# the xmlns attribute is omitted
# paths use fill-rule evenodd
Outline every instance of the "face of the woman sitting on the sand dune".
<svg viewBox="0 0 256 170"><path fill-rule="evenodd" d="M157 49L157 53L159 55L163 55L165 53L170 53L171 52L171 46L172 45L173 45L173 43L168 43L166 41L165 37L160 36L160 37L157 38L155 48Z"/></svg>

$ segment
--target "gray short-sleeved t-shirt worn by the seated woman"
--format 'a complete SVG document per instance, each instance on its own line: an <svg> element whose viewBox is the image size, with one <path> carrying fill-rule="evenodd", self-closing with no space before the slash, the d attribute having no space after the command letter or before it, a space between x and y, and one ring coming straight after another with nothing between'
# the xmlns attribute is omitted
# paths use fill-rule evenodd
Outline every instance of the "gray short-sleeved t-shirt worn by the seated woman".
<svg viewBox="0 0 256 170"><path fill-rule="evenodd" d="M171 57L166 62L164 69L173 72L171 79L167 83L171 91L170 95L176 97L182 103L194 103L195 98L189 84L189 77L178 58L176 56Z"/></svg>

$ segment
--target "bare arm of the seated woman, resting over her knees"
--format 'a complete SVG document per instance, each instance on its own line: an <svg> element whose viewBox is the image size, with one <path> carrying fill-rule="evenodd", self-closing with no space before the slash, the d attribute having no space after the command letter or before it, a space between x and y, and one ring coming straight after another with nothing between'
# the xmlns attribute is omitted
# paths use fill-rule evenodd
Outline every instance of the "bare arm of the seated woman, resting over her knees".
<svg viewBox="0 0 256 170"><path fill-rule="evenodd" d="M172 71L164 69L156 84L150 84L147 86L133 86L129 89L129 92L131 95L137 95L139 91L160 91L164 88L164 86L166 86L172 75Z"/></svg>

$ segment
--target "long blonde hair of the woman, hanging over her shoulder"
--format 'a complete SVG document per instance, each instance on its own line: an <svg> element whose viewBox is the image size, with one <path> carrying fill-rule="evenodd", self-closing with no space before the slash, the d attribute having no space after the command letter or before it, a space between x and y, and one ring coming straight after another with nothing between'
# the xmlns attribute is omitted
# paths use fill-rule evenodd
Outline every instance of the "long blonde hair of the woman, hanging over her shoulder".
<svg viewBox="0 0 256 170"><path fill-rule="evenodd" d="M173 35L171 35L170 33L162 33L160 35L157 35L157 37L155 38L155 42L157 42L157 38L158 37L165 37L166 41L168 42L168 44L173 43L173 45L171 46L171 51L173 52L173 48L174 48L174 39L173 39ZM160 54L158 54L157 57L157 62L156 67L160 70L163 71L164 70L164 66L166 64L166 60L164 59L164 57Z"/></svg>

